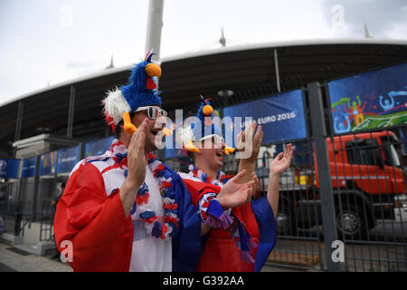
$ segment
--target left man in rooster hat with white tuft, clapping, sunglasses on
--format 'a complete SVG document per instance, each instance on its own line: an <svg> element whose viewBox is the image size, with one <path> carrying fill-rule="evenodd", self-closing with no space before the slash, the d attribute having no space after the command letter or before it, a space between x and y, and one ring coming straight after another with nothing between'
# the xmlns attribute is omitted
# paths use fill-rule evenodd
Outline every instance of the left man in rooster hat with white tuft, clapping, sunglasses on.
<svg viewBox="0 0 407 290"><path fill-rule="evenodd" d="M152 154L157 136L171 132L159 121L166 111L153 78L161 68L151 57L103 100L117 138L105 154L72 169L58 204L55 239L62 254L71 242L75 271L193 271L199 262L197 209L182 179ZM254 181L237 180L230 181L233 195L250 196ZM228 194L231 189L220 193Z"/></svg>

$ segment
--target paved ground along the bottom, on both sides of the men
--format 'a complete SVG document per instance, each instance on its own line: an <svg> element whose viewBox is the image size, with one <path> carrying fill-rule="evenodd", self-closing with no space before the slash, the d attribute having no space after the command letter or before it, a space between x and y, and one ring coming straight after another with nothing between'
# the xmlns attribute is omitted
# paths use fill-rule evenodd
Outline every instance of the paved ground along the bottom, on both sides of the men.
<svg viewBox="0 0 407 290"><path fill-rule="evenodd" d="M317 244L320 244L320 252L317 250ZM346 263L341 263L341 267L345 271L361 272L407 271L406 245L346 244ZM293 254L289 254L291 251ZM261 272L320 271L320 262L326 263L324 252L323 242L279 241L274 248L273 258L263 266ZM62 263L59 257L52 256L52 253L48 256L36 256L0 242L0 272L72 272L71 266ZM281 266L275 265L277 261ZM271 262L274 262L274 265L270 265ZM302 269L294 266L302 266Z"/></svg>

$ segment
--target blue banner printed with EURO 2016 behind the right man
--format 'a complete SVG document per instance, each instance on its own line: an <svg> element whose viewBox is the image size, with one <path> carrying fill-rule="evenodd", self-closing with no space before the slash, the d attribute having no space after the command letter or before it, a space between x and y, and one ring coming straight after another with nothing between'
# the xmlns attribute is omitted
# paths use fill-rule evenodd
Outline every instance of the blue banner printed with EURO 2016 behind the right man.
<svg viewBox="0 0 407 290"><path fill-rule="evenodd" d="M223 116L232 118L235 138L244 127L245 117L251 117L252 121L261 125L264 131L263 144L307 137L301 90L227 107L223 110ZM236 123L236 117L241 117L241 124ZM227 121L225 126L229 126Z"/></svg>

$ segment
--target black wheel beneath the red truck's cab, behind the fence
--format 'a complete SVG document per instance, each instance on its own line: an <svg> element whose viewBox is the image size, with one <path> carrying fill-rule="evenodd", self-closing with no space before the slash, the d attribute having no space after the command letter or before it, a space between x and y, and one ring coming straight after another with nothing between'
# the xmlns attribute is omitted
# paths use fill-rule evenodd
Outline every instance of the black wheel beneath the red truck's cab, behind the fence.
<svg viewBox="0 0 407 290"><path fill-rule="evenodd" d="M369 229L364 218L364 208L343 204L341 212L339 206L336 206L336 227L339 239L365 240Z"/></svg>

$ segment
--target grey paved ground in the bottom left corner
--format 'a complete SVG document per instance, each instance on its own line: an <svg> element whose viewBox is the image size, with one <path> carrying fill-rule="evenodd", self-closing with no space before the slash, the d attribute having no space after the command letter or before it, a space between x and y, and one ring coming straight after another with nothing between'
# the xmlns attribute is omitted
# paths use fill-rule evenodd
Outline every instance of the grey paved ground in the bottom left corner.
<svg viewBox="0 0 407 290"><path fill-rule="evenodd" d="M51 256L36 256L0 242L0 272L72 272L71 266Z"/></svg>

